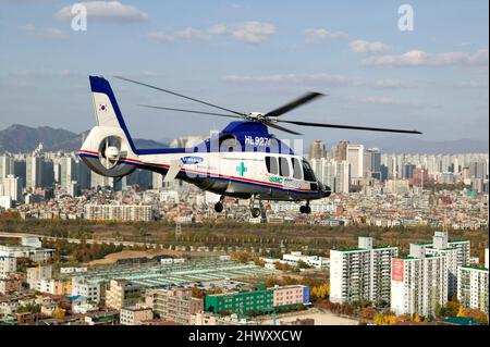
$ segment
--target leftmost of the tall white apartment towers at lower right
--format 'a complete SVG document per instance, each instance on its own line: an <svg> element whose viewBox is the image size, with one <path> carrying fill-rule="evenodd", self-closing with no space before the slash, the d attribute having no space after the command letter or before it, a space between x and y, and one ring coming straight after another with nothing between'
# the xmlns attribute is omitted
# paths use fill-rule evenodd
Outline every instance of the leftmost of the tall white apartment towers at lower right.
<svg viewBox="0 0 490 347"><path fill-rule="evenodd" d="M373 247L371 237L359 237L358 247L330 250L330 301L390 301L391 259L397 247Z"/></svg>

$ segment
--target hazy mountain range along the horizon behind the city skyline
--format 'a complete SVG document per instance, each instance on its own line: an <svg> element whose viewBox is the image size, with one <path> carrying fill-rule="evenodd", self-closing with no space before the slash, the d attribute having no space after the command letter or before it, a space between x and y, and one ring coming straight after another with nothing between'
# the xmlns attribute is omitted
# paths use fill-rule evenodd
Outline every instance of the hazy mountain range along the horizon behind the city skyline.
<svg viewBox="0 0 490 347"><path fill-rule="evenodd" d="M39 142L44 144L47 151L77 150L83 142L87 132L76 134L62 128L50 126L29 127L14 124L0 131L0 152L30 152ZM150 139L136 138L135 146L138 148L162 148L168 147L168 141L155 141ZM365 148L378 147L384 153L488 153L488 139L462 138L448 141L429 141L406 136L390 136L375 140L351 140L352 144L363 144ZM327 144L331 148L336 144Z"/></svg>

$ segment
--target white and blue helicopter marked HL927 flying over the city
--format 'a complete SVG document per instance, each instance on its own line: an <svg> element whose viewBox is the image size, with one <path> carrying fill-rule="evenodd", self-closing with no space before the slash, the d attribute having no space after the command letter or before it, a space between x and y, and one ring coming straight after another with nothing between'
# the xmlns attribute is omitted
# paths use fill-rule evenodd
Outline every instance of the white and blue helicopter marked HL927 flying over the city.
<svg viewBox="0 0 490 347"><path fill-rule="evenodd" d="M418 131L366 127L353 125L311 123L283 120L280 116L299 106L323 96L307 92L272 111L240 112L175 91L137 82L122 76L115 78L195 101L221 112L207 112L143 104L143 107L172 112L185 112L235 119L218 134L211 135L196 146L187 148L137 148L124 123L121 110L109 82L101 76L89 76L97 125L94 126L77 154L96 173L121 179L136 169L162 174L163 182L182 179L200 189L220 196L215 211L222 212L224 198L249 199L254 218L264 212L262 201L305 201L301 213L310 213L309 202L327 198L332 189L317 179L311 165L301 153L269 128L293 135L296 131L283 124L341 129L359 129L405 134ZM281 124L281 125L280 125ZM256 200L259 208L256 207Z"/></svg>

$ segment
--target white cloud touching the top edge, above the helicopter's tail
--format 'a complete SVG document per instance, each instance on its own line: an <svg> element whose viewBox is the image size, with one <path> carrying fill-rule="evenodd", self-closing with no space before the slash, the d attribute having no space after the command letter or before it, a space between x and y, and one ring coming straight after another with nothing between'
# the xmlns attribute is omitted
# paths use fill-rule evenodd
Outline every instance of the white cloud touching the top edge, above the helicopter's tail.
<svg viewBox="0 0 490 347"><path fill-rule="evenodd" d="M122 4L119 1L85 1L78 2L87 9L87 18L90 20L108 20L120 23L143 22L148 20L148 14L140 11L136 7ZM72 7L62 8L54 14L54 17L61 20L72 20Z"/></svg>

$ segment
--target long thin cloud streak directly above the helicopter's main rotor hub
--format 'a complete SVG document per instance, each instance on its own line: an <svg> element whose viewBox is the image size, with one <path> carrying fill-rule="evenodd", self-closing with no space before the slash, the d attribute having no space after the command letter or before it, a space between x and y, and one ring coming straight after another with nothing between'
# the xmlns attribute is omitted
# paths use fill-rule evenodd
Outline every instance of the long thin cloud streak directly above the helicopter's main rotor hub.
<svg viewBox="0 0 490 347"><path fill-rule="evenodd" d="M240 76L228 75L222 79L229 83L314 83L329 86L359 86L363 83L356 78L342 75L330 75L326 73L317 74L278 74L262 76Z"/></svg>

